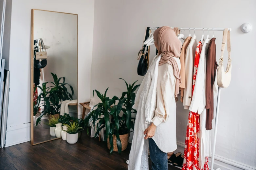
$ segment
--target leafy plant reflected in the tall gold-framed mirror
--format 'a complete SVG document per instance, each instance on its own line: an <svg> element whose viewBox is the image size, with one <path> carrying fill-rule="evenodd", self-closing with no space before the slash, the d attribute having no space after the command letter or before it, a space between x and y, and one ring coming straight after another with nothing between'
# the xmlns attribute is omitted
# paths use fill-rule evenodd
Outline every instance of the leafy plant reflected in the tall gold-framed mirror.
<svg viewBox="0 0 256 170"><path fill-rule="evenodd" d="M65 78L58 78L56 74L51 73L54 82L45 82L41 86L37 86L42 92L38 95L36 104L34 106L34 116L41 108L42 112L36 120L36 125L41 122L41 118L44 115L54 115L58 117L60 115L61 102L64 100L72 100L72 95L74 94L73 87L65 83ZM62 80L62 82L61 82ZM51 84L52 86L46 87L46 84ZM68 85L72 92L69 93L67 88Z"/></svg>

